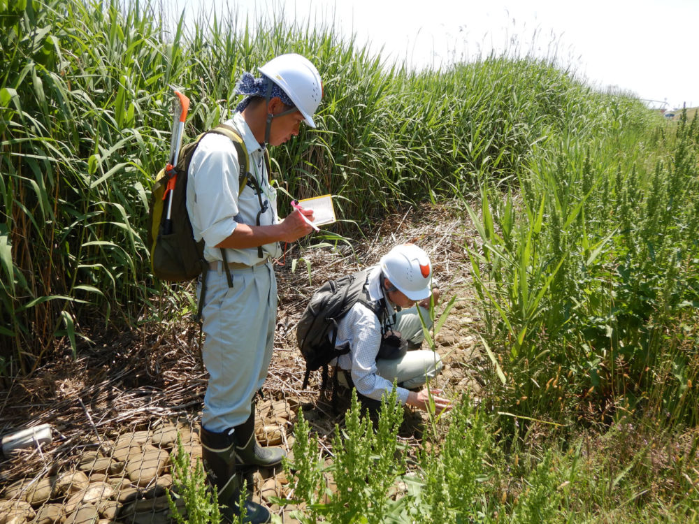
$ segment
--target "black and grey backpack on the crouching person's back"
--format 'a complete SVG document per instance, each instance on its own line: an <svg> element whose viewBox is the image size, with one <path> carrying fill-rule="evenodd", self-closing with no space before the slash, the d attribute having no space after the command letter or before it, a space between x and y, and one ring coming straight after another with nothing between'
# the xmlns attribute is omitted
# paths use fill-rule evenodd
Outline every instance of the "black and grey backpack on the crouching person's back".
<svg viewBox="0 0 699 524"><path fill-rule="evenodd" d="M323 284L310 299L296 326L298 349L306 363L303 388L308 386L310 372L323 368L322 390L328 378L328 364L340 355L349 353L349 347L336 348L338 322L356 303L366 305L379 315L382 300L373 301L366 290L368 270L345 275Z"/></svg>

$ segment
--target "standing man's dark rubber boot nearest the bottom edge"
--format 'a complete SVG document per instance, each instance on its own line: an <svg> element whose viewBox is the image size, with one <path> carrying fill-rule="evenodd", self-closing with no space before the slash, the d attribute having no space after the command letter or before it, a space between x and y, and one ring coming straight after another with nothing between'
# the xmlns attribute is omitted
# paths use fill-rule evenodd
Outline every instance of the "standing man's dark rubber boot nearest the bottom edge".
<svg viewBox="0 0 699 524"><path fill-rule="evenodd" d="M207 479L218 493L221 514L230 522L240 516L240 475L236 474L236 451L233 435L212 432L201 427L201 458ZM239 465L239 464L238 464ZM245 523L269 522L266 508L252 500L245 500Z"/></svg>

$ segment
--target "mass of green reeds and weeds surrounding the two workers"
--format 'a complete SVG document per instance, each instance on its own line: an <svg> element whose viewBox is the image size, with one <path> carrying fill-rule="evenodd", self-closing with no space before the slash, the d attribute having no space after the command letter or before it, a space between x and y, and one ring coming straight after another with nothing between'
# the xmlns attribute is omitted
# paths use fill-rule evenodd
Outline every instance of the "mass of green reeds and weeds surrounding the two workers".
<svg viewBox="0 0 699 524"><path fill-rule="evenodd" d="M408 511L420 522L697 518L696 119L663 122L547 61L483 57L418 74L382 67L331 29L219 19L201 25L210 34L165 34L152 6L3 9L3 376L66 341L78 351L88 328L179 314L180 293L152 279L145 246L167 86L194 101L194 136L231 114L242 71L301 52L319 64L325 96L320 131L275 152L285 189L338 194L341 216L360 222L403 203L480 196L464 219L480 228L469 253L493 360L482 408L463 402L435 424L439 444L412 465L416 488L403 502L377 502L403 468L384 453L380 483L347 469L355 483L343 496L356 500L328 511L359 504L371 521ZM335 450L347 468L371 444L359 421L348 428ZM391 425L376 438L391 450ZM298 472L308 502L314 467Z"/></svg>

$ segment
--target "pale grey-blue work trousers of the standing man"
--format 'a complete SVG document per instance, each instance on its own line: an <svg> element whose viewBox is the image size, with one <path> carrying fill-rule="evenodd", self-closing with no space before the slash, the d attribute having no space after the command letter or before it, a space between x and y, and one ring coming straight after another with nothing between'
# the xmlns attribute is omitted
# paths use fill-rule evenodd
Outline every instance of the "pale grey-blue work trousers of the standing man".
<svg viewBox="0 0 699 524"><path fill-rule="evenodd" d="M240 425L250 416L254 394L267 377L274 347L277 282L271 263L207 273L202 310L206 340L202 356L209 382L201 424L213 432ZM197 298L201 282L197 286Z"/></svg>

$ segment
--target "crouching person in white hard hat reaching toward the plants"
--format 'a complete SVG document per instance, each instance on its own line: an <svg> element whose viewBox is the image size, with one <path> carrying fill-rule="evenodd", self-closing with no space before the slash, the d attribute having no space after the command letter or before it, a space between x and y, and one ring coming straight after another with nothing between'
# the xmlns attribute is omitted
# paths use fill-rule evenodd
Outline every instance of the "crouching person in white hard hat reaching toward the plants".
<svg viewBox="0 0 699 524"><path fill-rule="evenodd" d="M427 410L431 395L438 413L450 409L440 390L422 388L442 369L435 351L419 349L424 332L418 307L431 328L426 308L432 295L432 265L427 254L413 244L398 245L366 275L363 300L338 322L335 346L349 348L337 359L338 381L354 386L373 416L394 381L401 404Z"/></svg>

